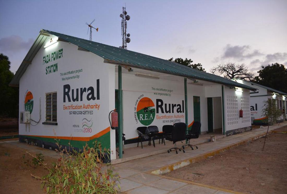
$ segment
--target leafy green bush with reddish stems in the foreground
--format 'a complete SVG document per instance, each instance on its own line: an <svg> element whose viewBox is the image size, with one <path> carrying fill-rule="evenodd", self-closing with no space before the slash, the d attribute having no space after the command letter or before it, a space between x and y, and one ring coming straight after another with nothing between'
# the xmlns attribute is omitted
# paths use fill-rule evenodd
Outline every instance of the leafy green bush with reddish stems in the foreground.
<svg viewBox="0 0 287 194"><path fill-rule="evenodd" d="M32 176L42 181L41 189L47 193L117 193L119 176L109 167L102 170L102 158L107 151L102 150L99 142L93 144L94 147L86 145L81 152L59 151L61 158L52 168L39 161L49 174Z"/></svg>

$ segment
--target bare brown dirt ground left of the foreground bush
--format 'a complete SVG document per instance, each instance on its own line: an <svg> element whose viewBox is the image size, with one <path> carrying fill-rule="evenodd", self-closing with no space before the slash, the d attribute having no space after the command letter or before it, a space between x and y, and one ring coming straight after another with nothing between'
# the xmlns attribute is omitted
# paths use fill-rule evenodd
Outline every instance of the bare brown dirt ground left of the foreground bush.
<svg viewBox="0 0 287 194"><path fill-rule="evenodd" d="M0 143L0 193L44 193L40 189L41 182L32 178L31 174L44 176L47 170L38 166L35 169L24 164L28 158L26 149ZM33 155L35 153L31 152ZM23 155L25 158L23 159ZM44 156L47 164L56 162L56 159Z"/></svg>

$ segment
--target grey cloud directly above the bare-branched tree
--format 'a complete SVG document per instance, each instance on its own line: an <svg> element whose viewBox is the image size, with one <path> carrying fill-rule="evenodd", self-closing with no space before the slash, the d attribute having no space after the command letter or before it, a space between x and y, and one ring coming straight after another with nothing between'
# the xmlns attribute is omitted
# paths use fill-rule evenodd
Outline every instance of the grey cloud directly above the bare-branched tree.
<svg viewBox="0 0 287 194"><path fill-rule="evenodd" d="M228 44L224 48L224 53L221 56L221 59L234 58L239 61L242 61L244 59L250 59L252 57L260 55L263 55L263 53L261 53L259 50L250 51L249 45L231 46L230 44Z"/></svg>

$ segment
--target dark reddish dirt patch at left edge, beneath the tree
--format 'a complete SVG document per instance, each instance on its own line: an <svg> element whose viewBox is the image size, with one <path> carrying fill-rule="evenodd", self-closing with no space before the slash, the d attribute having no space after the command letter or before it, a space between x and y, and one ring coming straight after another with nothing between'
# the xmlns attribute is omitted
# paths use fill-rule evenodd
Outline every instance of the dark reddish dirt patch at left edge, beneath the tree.
<svg viewBox="0 0 287 194"><path fill-rule="evenodd" d="M0 137L18 135L17 118L0 118Z"/></svg>

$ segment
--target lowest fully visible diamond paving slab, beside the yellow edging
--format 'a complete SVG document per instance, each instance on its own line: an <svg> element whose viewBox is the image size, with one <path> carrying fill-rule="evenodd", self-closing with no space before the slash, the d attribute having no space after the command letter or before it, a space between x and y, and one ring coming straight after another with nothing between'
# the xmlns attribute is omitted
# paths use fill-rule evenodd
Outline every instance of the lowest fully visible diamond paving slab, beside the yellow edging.
<svg viewBox="0 0 287 194"><path fill-rule="evenodd" d="M168 191L174 191L176 189L179 189L179 188L187 185L187 183L183 183L183 182L179 182L179 181L163 178L163 179L160 179L160 180L158 180L156 182L150 183L148 185L152 186L152 187L159 188L159 189L164 189L164 190L168 190Z"/></svg>

